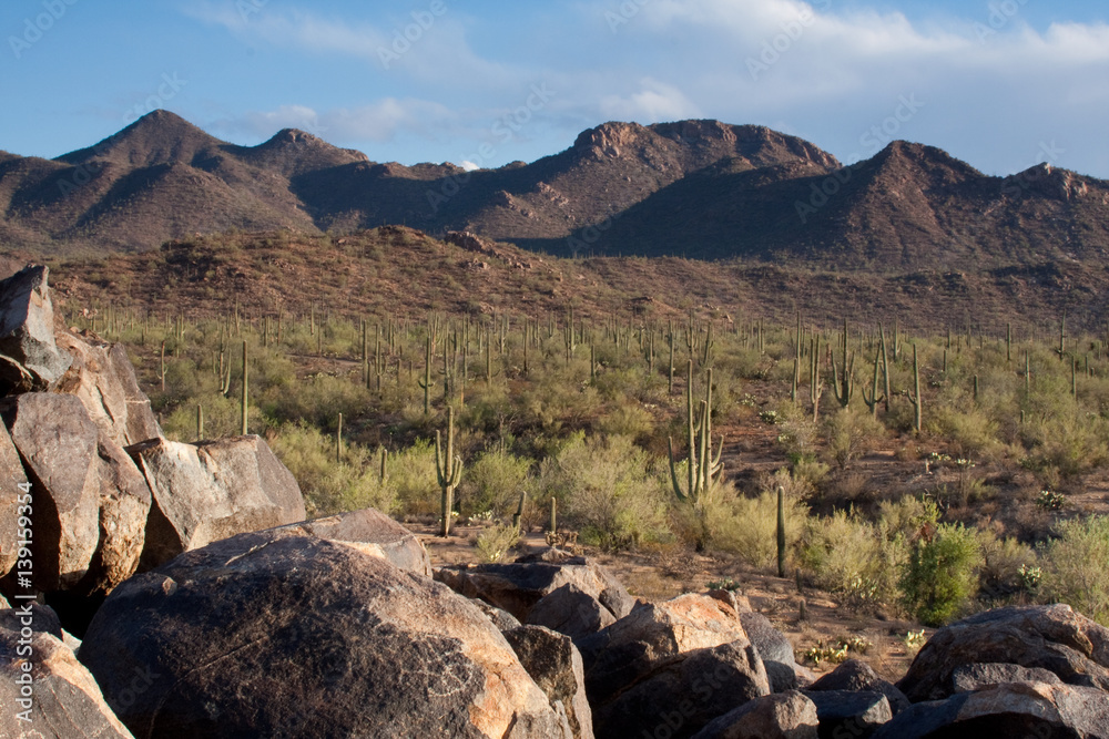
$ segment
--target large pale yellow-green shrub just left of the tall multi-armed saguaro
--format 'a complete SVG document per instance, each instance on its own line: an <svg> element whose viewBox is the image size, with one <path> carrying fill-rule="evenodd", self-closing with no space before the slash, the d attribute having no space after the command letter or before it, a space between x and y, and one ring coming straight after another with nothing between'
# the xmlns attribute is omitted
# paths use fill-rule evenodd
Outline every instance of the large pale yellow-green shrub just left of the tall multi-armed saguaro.
<svg viewBox="0 0 1109 739"><path fill-rule="evenodd" d="M540 464L542 500L557 497L562 521L606 548L667 538L668 491L658 461L627 437L573 433Z"/></svg>

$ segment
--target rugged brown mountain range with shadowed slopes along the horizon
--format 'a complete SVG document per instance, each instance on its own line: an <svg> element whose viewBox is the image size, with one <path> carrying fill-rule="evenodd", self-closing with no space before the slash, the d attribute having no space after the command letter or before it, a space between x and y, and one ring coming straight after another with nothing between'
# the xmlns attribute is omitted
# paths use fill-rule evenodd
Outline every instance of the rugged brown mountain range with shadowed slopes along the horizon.
<svg viewBox="0 0 1109 739"><path fill-rule="evenodd" d="M893 142L843 165L762 126L606 123L531 164L370 162L286 129L237 146L155 111L54 160L0 152L0 245L142 252L227 230L468 230L554 255L742 258L903 273L1109 256L1109 182L985 175Z"/></svg>

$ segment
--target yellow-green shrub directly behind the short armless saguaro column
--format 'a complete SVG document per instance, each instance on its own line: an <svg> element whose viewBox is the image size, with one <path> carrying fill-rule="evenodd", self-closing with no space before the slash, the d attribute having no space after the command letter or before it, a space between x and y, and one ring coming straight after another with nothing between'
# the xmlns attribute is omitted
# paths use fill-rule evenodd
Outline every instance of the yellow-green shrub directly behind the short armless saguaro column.
<svg viewBox="0 0 1109 739"><path fill-rule="evenodd" d="M777 492L764 491L755 497L735 495L718 496L709 501L705 520L710 542L714 548L734 554L741 561L760 569L777 567ZM805 506L796 496L785 499L786 553L792 553L801 541L808 517Z"/></svg>

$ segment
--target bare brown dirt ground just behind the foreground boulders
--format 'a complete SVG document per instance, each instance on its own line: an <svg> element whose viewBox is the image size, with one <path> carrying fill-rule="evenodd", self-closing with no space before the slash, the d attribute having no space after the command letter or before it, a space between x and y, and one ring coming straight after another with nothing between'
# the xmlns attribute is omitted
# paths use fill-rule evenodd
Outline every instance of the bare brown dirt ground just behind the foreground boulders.
<svg viewBox="0 0 1109 739"><path fill-rule="evenodd" d="M458 525L449 538L436 535L431 525L406 524L416 532L427 547L433 566L480 562L476 548L481 526ZM529 533L509 558L528 550L546 546L543 534ZM828 594L805 588L798 594L796 583L752 573L734 563L702 556L692 552L662 555L621 552L601 553L583 547L582 553L608 567L633 596L648 602L660 602L682 593L708 589L708 584L731 578L739 585L751 606L763 614L793 643L797 661L817 675L833 669L827 663L814 664L804 657L805 651L820 643L834 644L842 638L862 637L869 643L865 654L852 654L871 665L882 677L894 681L905 675L916 649L906 646L905 635L922 627L913 622L888 618L883 614L853 613L833 601ZM800 618L802 599L805 619ZM932 634L932 629L927 629Z"/></svg>

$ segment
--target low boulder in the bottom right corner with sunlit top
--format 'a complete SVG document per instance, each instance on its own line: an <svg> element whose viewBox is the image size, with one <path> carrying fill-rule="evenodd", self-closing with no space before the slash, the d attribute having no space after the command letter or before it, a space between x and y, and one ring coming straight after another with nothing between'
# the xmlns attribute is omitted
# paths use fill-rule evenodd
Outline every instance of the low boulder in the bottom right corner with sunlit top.
<svg viewBox="0 0 1109 739"><path fill-rule="evenodd" d="M873 739L1109 738L1109 697L1097 688L1009 682L915 704Z"/></svg>

